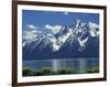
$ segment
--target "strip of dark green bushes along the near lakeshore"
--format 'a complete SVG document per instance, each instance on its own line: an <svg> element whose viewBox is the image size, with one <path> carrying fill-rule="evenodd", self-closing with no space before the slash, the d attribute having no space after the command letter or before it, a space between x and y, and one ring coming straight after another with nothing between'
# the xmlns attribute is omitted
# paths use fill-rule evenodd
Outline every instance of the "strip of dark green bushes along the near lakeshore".
<svg viewBox="0 0 110 87"><path fill-rule="evenodd" d="M88 73L99 73L99 67L91 67L86 72L79 73L77 70L72 70L70 68L62 68L57 72L54 72L50 67L44 67L41 70L32 70L29 67L23 67L23 76L43 76L43 75L64 75L64 74L88 74Z"/></svg>

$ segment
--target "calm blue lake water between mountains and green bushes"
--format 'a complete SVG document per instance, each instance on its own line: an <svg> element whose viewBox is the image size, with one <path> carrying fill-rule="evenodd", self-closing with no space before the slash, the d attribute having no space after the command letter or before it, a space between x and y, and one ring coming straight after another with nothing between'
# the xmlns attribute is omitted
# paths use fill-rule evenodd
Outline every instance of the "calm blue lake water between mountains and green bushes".
<svg viewBox="0 0 110 87"><path fill-rule="evenodd" d="M92 57L23 61L23 67L30 67L33 70L40 70L44 67L50 67L53 70L70 68L72 70L85 72L95 66L99 66L99 59Z"/></svg>

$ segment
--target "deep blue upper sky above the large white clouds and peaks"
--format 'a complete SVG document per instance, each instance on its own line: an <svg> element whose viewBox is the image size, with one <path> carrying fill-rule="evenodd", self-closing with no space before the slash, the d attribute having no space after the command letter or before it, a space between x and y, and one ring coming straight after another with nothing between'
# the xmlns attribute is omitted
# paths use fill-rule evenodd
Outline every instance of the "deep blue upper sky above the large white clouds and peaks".
<svg viewBox="0 0 110 87"><path fill-rule="evenodd" d="M89 21L99 24L98 13L76 13L76 12L57 12L57 11L37 11L37 10L22 10L22 28L28 30L44 29L45 25L70 25L76 19L88 23ZM37 30L38 30L37 29Z"/></svg>

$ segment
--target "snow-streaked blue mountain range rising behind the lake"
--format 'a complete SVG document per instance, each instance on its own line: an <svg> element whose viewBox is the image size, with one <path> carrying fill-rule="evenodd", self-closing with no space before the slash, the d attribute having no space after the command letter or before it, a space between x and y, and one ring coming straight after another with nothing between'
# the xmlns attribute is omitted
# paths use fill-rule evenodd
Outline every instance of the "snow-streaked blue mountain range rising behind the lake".
<svg viewBox="0 0 110 87"><path fill-rule="evenodd" d="M23 39L23 59L99 56L99 25L76 20L57 33L37 32Z"/></svg>

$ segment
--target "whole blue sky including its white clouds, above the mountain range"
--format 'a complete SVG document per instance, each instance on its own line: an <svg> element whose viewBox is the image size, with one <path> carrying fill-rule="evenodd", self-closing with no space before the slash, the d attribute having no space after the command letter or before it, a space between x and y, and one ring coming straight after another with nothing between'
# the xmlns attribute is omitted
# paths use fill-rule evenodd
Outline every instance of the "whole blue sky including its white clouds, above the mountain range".
<svg viewBox="0 0 110 87"><path fill-rule="evenodd" d="M72 25L76 19L99 24L98 13L22 10L22 30L30 37L41 31L57 33L63 26Z"/></svg>

